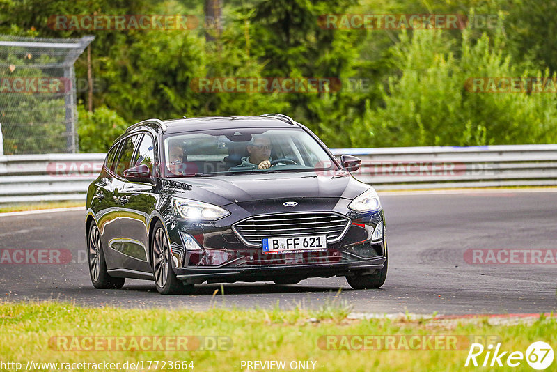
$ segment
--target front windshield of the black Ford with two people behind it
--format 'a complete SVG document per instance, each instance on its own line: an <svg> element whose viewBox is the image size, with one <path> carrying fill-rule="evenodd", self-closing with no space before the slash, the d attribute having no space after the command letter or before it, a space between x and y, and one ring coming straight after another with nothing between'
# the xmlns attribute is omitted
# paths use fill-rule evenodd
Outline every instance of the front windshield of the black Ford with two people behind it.
<svg viewBox="0 0 557 372"><path fill-rule="evenodd" d="M164 154L168 177L338 169L322 146L301 128L168 134Z"/></svg>

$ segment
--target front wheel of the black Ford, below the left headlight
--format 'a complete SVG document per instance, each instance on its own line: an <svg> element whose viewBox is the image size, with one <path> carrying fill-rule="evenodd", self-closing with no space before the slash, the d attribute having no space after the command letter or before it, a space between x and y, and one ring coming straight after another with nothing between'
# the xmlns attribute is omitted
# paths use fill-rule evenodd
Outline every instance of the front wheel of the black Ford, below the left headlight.
<svg viewBox="0 0 557 372"><path fill-rule="evenodd" d="M172 270L172 257L166 231L160 221L157 221L151 237L152 274L155 286L161 295L180 295L191 293L193 284L182 283Z"/></svg>

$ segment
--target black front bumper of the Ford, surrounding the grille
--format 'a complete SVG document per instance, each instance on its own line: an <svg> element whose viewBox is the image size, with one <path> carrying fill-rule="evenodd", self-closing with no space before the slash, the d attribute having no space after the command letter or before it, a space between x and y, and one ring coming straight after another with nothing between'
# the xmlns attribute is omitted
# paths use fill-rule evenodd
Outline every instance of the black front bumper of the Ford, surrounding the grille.
<svg viewBox="0 0 557 372"><path fill-rule="evenodd" d="M269 281L278 277L301 280L371 273L383 268L387 256L383 211L356 214L338 204L329 210L350 219L349 227L326 251L304 253L262 254L260 247L244 244L232 226L251 213L233 212L229 217L207 224L176 223L172 219L166 227L171 240L173 270L178 279L201 284L205 281ZM382 239L372 240L378 224L383 226ZM184 234L195 238L199 250L186 249Z"/></svg>

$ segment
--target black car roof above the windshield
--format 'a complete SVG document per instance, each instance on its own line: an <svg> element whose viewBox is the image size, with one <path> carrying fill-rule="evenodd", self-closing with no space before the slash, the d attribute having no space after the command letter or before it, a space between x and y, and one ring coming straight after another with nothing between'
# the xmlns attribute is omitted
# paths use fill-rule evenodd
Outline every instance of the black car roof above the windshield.
<svg viewBox="0 0 557 372"><path fill-rule="evenodd" d="M164 133L194 132L197 130L284 127L297 128L281 118L261 116L204 116L199 118L180 118L163 121Z"/></svg>

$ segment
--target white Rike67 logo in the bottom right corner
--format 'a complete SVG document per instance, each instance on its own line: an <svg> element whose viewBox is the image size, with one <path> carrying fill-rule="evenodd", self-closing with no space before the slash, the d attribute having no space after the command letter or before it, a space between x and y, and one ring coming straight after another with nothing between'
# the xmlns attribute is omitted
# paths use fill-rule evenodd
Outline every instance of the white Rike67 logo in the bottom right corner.
<svg viewBox="0 0 557 372"><path fill-rule="evenodd" d="M549 343L536 341L528 346L526 353L523 353L521 351L503 351L501 350L501 343L497 343L495 348L492 344L484 348L481 343L473 343L470 346L464 366L502 367L506 365L517 367L524 362L524 359L533 369L547 369L553 363L553 348L549 346Z"/></svg>

